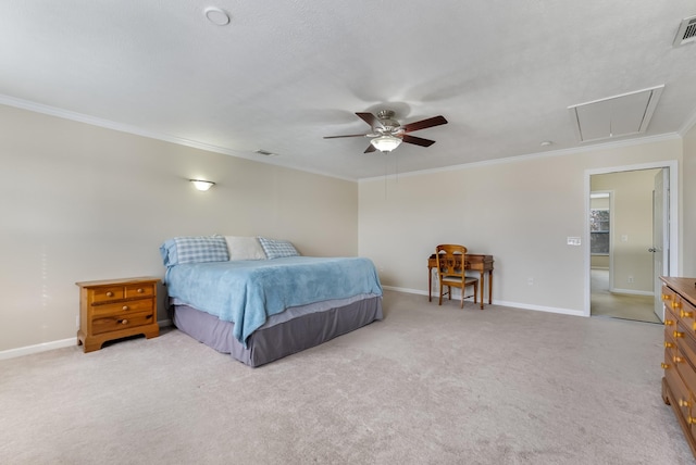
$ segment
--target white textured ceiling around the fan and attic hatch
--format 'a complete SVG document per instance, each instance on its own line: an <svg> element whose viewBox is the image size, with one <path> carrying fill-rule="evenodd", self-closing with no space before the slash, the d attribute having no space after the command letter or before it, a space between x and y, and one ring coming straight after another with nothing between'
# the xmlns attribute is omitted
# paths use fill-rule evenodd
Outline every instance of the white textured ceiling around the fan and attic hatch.
<svg viewBox="0 0 696 465"><path fill-rule="evenodd" d="M612 140L679 134L696 45L672 41L693 15L693 0L3 1L0 103L360 179L606 143L580 142L568 108L661 85L647 130ZM381 109L449 124L391 154L323 139Z"/></svg>

